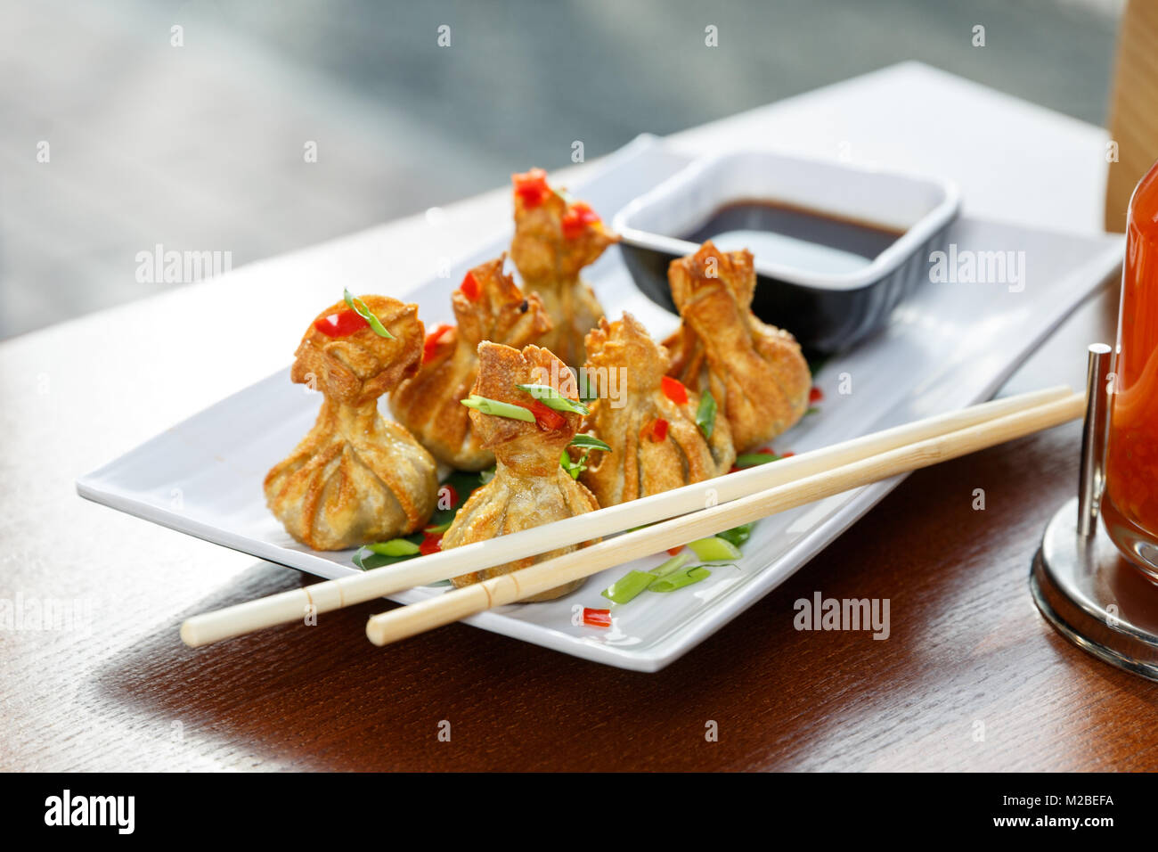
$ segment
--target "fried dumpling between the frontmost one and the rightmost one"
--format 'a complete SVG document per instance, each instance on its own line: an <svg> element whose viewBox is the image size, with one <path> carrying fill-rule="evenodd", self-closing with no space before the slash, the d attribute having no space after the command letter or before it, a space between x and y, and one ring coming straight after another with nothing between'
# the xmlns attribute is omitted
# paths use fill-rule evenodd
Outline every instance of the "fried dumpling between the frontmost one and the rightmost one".
<svg viewBox="0 0 1158 852"><path fill-rule="evenodd" d="M600 505L615 505L727 473L735 461L727 420L716 418L711 438L696 424L699 394L665 376L667 350L631 314L599 321L587 335L586 373L618 371L623 393L591 405L584 424L611 447L593 450L580 474ZM609 383L606 383L609 384Z"/></svg>

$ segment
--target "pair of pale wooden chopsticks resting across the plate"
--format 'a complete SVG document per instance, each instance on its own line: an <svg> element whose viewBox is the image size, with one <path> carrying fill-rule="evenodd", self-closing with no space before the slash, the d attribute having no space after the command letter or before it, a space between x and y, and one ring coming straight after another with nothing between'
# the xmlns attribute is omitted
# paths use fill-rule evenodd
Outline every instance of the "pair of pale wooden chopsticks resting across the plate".
<svg viewBox="0 0 1158 852"><path fill-rule="evenodd" d="M208 645L300 621L310 611L330 612L623 533L373 616L366 635L374 645L388 645L775 512L1077 420L1084 412L1085 395L1068 387L995 400L489 541L193 616L181 626L181 638L190 647Z"/></svg>

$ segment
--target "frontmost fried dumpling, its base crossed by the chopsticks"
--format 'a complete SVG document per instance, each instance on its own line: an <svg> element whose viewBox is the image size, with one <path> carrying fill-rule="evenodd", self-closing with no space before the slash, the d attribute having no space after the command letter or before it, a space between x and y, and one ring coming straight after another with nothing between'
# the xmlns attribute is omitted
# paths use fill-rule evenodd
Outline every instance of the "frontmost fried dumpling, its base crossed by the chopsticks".
<svg viewBox="0 0 1158 852"><path fill-rule="evenodd" d="M476 489L459 509L450 529L442 536L444 551L599 509L594 495L573 480L559 465L559 457L574 437L582 420L581 415L549 409L516 387L527 384L550 384L551 376L570 376L570 373L564 364L545 349L528 345L520 352L518 349L497 343L479 344L478 379L475 381L472 393L499 402L530 407L536 412L536 421L527 423L477 410L470 412L470 418L483 446L494 451L494 476ZM562 395L576 399L573 388L570 394L566 393L566 385L557 389ZM455 577L454 584L461 588L510 574L589 544L594 542L570 545L538 556L466 574ZM582 580L577 580L527 599L550 600L574 591L581 584Z"/></svg>

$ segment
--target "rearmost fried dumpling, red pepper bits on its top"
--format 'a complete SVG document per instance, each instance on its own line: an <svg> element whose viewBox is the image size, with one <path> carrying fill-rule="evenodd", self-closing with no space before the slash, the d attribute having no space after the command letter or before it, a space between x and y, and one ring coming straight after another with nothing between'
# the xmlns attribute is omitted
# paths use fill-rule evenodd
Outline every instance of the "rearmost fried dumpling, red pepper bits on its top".
<svg viewBox="0 0 1158 852"><path fill-rule="evenodd" d="M523 289L538 293L555 327L540 341L569 366L584 362L584 336L603 315L579 270L618 236L604 230L584 202L569 202L547 184L547 173L513 175L514 239L511 260Z"/></svg>

